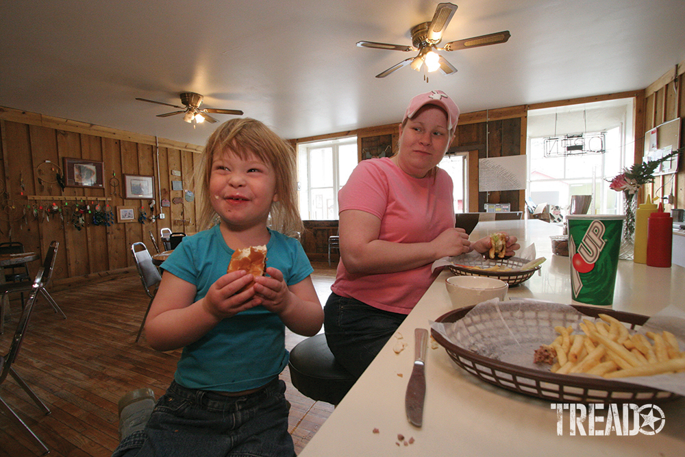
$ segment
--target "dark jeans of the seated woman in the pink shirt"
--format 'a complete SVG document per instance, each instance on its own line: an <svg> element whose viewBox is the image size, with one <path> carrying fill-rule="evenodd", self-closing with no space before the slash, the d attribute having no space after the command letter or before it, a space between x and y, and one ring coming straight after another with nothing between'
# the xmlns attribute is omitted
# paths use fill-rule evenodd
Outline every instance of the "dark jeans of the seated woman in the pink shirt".
<svg viewBox="0 0 685 457"><path fill-rule="evenodd" d="M323 312L329 349L338 363L357 378L407 317L335 293L328 297Z"/></svg>

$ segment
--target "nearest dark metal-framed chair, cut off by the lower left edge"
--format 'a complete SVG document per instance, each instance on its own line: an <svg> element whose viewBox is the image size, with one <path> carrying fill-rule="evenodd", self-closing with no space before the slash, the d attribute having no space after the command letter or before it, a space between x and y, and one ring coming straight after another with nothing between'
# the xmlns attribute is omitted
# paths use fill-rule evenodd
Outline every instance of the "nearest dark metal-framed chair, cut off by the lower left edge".
<svg viewBox="0 0 685 457"><path fill-rule="evenodd" d="M45 411L46 415L50 414L50 410L47 406L45 406L45 403L43 403L40 398L38 398L38 395L32 391L32 389L26 384L26 382L21 378L21 376L18 375L18 373L15 371L14 367L14 362L16 362L16 358L19 354L19 349L21 349L21 342L24 339L24 336L26 335L26 328L29 323L29 319L31 319L31 314L34 309L34 304L36 302L36 297L38 296L38 291L42 290L42 288L45 287L45 278L48 277L49 275L46 275L45 273L49 273L45 269L45 267L40 267L38 269L38 274L36 275L36 279L34 282L32 282L32 286L30 289L29 297L26 300L23 310L21 311L21 317L19 317L19 323L16 326L16 330L14 332L14 338L12 339L12 345L10 345L10 350L8 351L7 354L4 356L0 356L0 394L2 393L2 387L3 383L7 379L8 375L12 375L12 378L16 381L17 384L23 390L31 397L34 402L36 402L36 405ZM3 408L3 410L7 411L8 417L12 421L14 421L17 425L20 425L21 427L25 428L31 436L33 436L34 440L36 440L36 443L40 445L40 447L44 450L43 454L47 454L50 452L50 449L47 448L45 443L43 443L40 438L29 428L28 425L19 417L16 412L12 408L10 408L10 405L5 402L5 399L3 399L2 395L0 395L0 406Z"/></svg>

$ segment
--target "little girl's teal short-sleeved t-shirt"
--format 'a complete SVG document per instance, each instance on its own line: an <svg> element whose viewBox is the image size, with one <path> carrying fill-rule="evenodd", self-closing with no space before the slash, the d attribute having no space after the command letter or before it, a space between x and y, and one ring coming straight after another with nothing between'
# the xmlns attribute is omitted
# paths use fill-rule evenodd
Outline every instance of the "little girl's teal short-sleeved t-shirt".
<svg viewBox="0 0 685 457"><path fill-rule="evenodd" d="M266 267L283 273L286 284L306 279L312 266L295 238L269 230ZM195 301L226 274L230 249L215 225L209 230L184 237L162 269L197 286ZM187 388L205 391L239 392L263 386L288 365L285 325L281 319L256 306L223 319L195 343L184 347L174 379Z"/></svg>

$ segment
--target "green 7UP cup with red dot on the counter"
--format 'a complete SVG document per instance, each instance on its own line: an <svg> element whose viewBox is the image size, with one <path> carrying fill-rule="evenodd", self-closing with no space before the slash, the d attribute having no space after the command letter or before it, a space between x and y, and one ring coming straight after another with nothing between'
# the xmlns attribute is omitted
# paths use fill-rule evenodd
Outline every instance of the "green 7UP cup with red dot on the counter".
<svg viewBox="0 0 685 457"><path fill-rule="evenodd" d="M624 216L569 214L569 258L574 301L611 306Z"/></svg>

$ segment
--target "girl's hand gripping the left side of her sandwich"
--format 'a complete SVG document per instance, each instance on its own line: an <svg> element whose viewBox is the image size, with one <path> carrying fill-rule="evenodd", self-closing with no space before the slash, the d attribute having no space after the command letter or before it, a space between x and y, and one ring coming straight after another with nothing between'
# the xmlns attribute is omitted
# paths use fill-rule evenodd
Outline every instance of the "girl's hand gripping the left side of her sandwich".
<svg viewBox="0 0 685 457"><path fill-rule="evenodd" d="M235 316L238 312L258 306L260 299L255 297L254 287L236 293L252 280L253 276L242 270L221 276L210 286L207 295L204 297L202 303L204 310L221 321L227 317Z"/></svg>

